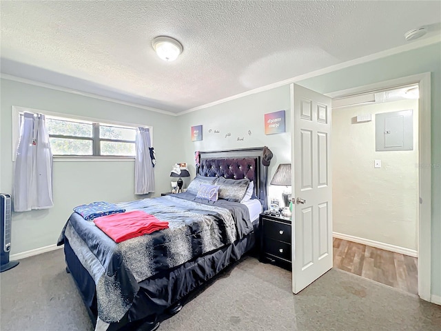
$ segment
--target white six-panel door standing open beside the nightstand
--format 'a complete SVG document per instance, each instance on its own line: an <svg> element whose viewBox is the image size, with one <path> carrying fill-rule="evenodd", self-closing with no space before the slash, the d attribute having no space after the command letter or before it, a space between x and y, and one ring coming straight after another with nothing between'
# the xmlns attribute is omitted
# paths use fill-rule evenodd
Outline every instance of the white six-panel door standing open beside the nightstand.
<svg viewBox="0 0 441 331"><path fill-rule="evenodd" d="M332 268L331 99L291 84L292 290Z"/></svg>

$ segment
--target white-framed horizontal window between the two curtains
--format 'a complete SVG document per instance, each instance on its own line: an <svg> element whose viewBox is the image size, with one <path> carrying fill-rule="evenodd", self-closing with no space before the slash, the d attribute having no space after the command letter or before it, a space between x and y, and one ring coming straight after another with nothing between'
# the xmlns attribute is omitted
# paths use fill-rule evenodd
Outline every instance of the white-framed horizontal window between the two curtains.
<svg viewBox="0 0 441 331"><path fill-rule="evenodd" d="M17 134L23 112L45 114L50 147L55 157L134 157L135 125L101 123L92 119L70 119L63 114L13 106L17 115ZM59 116L61 115L61 116ZM150 128L152 134L152 128ZM13 155L14 159L14 155Z"/></svg>

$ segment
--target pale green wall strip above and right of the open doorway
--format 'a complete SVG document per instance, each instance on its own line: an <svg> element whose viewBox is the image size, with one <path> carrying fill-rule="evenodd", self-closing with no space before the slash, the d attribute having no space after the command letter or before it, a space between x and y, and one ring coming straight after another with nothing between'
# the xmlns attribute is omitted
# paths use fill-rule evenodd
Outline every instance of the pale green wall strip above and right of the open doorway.
<svg viewBox="0 0 441 331"><path fill-rule="evenodd" d="M329 93L400 77L431 72L432 294L441 297L441 43L351 66L299 85Z"/></svg>

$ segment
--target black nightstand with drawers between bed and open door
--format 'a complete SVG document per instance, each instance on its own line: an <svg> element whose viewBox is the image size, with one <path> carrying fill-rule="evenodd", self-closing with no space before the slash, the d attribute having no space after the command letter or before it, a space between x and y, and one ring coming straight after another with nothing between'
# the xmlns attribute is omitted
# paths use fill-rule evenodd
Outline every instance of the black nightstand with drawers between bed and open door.
<svg viewBox="0 0 441 331"><path fill-rule="evenodd" d="M260 262L291 270L291 217L260 214Z"/></svg>

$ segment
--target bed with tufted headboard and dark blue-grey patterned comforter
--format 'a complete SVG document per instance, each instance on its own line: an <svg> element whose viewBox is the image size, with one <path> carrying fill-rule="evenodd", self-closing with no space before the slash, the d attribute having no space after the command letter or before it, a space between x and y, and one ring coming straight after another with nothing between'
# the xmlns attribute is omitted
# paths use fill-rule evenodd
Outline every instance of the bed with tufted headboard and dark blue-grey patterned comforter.
<svg viewBox="0 0 441 331"><path fill-rule="evenodd" d="M75 212L58 244L95 330L156 330L204 284L256 244L258 214L267 209L263 148L199 152L196 174L253 181L239 203L196 199L192 192L119 203L170 221L170 228L116 244ZM185 226L184 226L185 225Z"/></svg>

